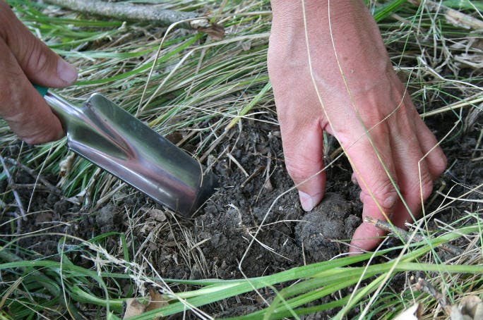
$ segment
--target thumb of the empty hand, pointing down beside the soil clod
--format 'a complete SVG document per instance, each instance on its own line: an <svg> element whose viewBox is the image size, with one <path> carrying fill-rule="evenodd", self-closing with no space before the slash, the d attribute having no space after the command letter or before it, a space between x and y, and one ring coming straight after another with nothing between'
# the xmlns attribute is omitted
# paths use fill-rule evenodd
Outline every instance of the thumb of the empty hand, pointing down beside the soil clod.
<svg viewBox="0 0 483 320"><path fill-rule="evenodd" d="M288 125L280 121L285 166L299 190L302 209L311 211L326 189L322 128L318 121L295 125L296 130L285 128Z"/></svg>

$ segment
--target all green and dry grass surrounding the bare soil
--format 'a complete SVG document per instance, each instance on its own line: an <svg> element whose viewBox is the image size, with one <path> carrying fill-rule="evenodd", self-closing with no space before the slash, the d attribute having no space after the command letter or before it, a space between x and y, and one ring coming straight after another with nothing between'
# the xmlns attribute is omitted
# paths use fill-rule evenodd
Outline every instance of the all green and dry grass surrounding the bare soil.
<svg viewBox="0 0 483 320"><path fill-rule="evenodd" d="M163 4L166 8L221 13L217 23L227 34L215 40L202 32L171 30L162 47L164 29L79 17L30 1L8 2L35 35L81 71L77 84L59 93L81 104L90 92L101 92L158 132L181 133L181 144L194 146L193 154L201 161L206 161L216 144L225 139L227 128L237 128L244 121L276 123L266 70L268 1L226 1L222 8L220 1L168 1ZM424 119L438 117L445 123L455 123L448 128L450 134L443 143L447 147L454 144L469 128L482 130L469 115L482 109L483 74L477 68L462 67L464 61L470 63L472 56L482 54L481 47L472 45L481 41L481 34L451 25L443 14L407 1L366 4L378 21L390 57L413 101L424 107L419 110ZM483 19L481 4L476 1L443 4ZM64 140L28 147L19 144L4 124L0 125L0 146L2 156L16 156L17 161L42 176L59 176L59 161L68 156ZM475 145L472 158L477 159L480 148ZM451 171L453 164L449 166ZM16 168L8 166L8 170L13 173ZM481 297L483 239L478 204L482 186L464 185L460 178L455 177L449 192L440 191L443 195L432 198L439 205L419 221L422 229L414 229L426 237L424 242L258 278L181 281L157 274L155 254L145 249L156 233L175 229L181 234L175 247L181 258L203 269L203 255L193 249L199 246L191 231L184 230L180 223L170 225L174 218L150 230L140 247L136 247L132 230L142 228L143 216L130 212L129 207L124 208L131 219L125 234L103 233L85 240L49 234L45 228L19 235L21 218L8 215L18 204L5 173L1 173L0 182L6 187L0 197L0 226L5 233L0 247L0 309L8 313L0 314L0 319L117 319L127 299L148 298L147 285L159 290L169 304L132 319L182 314L186 309L201 319L210 319L210 306L246 293L258 295L267 302L266 307L236 319L299 318L322 310L332 310L336 319L391 319L414 302L424 305L422 319L443 319L434 298L415 292L410 285L394 291L390 281L417 273L443 290L452 303L464 295ZM115 191L122 187L118 180L78 157L67 175L57 180L55 187L78 202L79 211L87 212L112 201L118 196ZM466 190L455 195L453 188ZM465 218L429 235L425 223L444 210L463 211ZM28 211L28 219L38 214L42 212ZM75 216L69 223L75 225L82 219ZM44 237L58 240L53 256L45 257L26 245ZM447 257L436 249L451 241L465 244L459 257Z"/></svg>

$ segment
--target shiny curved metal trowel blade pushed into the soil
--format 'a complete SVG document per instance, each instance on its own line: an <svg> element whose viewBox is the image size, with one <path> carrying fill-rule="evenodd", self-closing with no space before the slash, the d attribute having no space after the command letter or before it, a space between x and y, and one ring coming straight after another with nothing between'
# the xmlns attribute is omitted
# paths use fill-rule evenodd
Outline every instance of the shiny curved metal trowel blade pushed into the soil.
<svg viewBox="0 0 483 320"><path fill-rule="evenodd" d="M154 130L101 94L80 107L47 92L68 147L155 201L191 216L213 194L217 180Z"/></svg>

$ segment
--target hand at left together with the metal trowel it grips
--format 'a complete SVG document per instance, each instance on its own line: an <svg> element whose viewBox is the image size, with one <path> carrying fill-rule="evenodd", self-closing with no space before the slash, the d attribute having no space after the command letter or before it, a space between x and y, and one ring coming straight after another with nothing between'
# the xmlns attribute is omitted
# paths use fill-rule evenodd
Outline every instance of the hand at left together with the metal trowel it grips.
<svg viewBox="0 0 483 320"><path fill-rule="evenodd" d="M11 128L13 124L14 132L22 133L20 137L49 130L49 126L58 134L59 124L55 121L56 128L52 127L52 115L50 121L42 118L47 106L36 109L38 97L29 99L33 92L28 81L66 87L75 82L76 69L37 39L4 0L0 0L0 21L0 116ZM212 194L212 174L203 176L197 161L105 97L93 94L77 108L41 91L61 120L68 147L157 202L189 216ZM42 121L47 125L37 126L32 133L25 129Z"/></svg>

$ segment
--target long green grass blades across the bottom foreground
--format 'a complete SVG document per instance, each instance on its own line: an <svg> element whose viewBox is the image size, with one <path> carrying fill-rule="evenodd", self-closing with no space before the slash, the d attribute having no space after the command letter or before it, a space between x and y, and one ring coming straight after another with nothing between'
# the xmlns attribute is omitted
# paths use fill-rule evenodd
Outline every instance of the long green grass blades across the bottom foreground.
<svg viewBox="0 0 483 320"><path fill-rule="evenodd" d="M78 307L76 307L80 302L81 305L105 307L108 314L112 312L111 319L115 319L115 314L119 314L122 309L122 302L126 299L119 299L119 288L115 288L115 286L113 288L113 283L119 286L118 281L129 279L155 285L155 288L160 290L165 299L171 301L165 307L145 312L132 319L152 319L153 316L168 316L183 312L186 306L200 307L262 288L268 288L268 290L277 293L270 306L236 319L261 319L262 317L264 319L282 319L285 316L290 316L290 314L301 315L334 307L342 307L335 316L335 319L342 319L343 315L349 312L352 307L362 307L366 295L373 293L388 274L405 271L424 271L427 275L439 273L442 276L439 280L445 281L448 287L458 288L462 290L462 293L466 293L467 290L461 288L465 285L465 279L462 282L458 277L463 274L474 275L475 281L477 281L483 272L483 266L479 264L479 259L474 259L473 254L477 253L475 250L465 252L462 257L458 257L460 259L458 264L445 263L445 261L439 261L439 263L424 262L421 261L421 258L434 252L438 245L460 238L462 235L481 242L481 233L479 233L481 222L478 221L475 225L458 228L453 232L443 231L431 240L408 245L402 259L397 263L389 259L378 264L353 266L360 261L384 257L390 251L400 250L401 247L380 250L376 254L368 253L357 257L345 257L300 266L270 276L234 281L216 279L180 281L143 276L143 273L139 273L140 270L137 270L139 266L129 261L128 254L124 258L113 257L100 245L102 239L107 237L120 238L121 243L126 245L126 239L122 233L105 234L89 241L71 237L61 238L59 242L60 261L53 261L48 257L37 257L37 259L31 261L24 261L13 254L12 251L15 251L18 247L14 242L10 242L5 243L0 252L1 259L5 261L0 264L0 270L7 271L7 276L4 278L7 288L4 291L4 299L0 303L2 307L8 305L8 309L16 315L16 318L24 318L35 311L43 312L52 306L59 308L60 304L74 319L81 319ZM475 235L475 233L479 233L479 235ZM481 251L482 247L479 247L479 250ZM22 254L31 255L32 258L36 255L33 252L23 251ZM72 256L73 252L82 252L87 259L100 261L96 264L97 269L85 269L73 264L68 258L68 256ZM13 272L14 270L16 272ZM108 279L111 283L109 288L104 279ZM364 286L359 286L359 281L365 279L371 279L371 281L365 283ZM293 281L297 282L282 290L275 288L282 283ZM173 293L168 285L174 283L189 284L199 288L184 293ZM354 287L354 285L356 286L353 293L347 293L345 297L339 300L317 304L314 307L299 308L306 303L322 297L330 297L338 290ZM21 286L21 289L18 288L19 286ZM16 292L16 297L9 297L13 292ZM22 293L28 293L28 295L24 296ZM374 309L377 310L380 304L388 303L386 295L378 295L372 304ZM407 295L409 295L409 292L403 293L403 298L400 298L403 303L412 300ZM32 297L37 297L33 304ZM398 305L394 304L394 300L390 301L392 315L401 311L404 307L403 303ZM30 307L25 308L26 306ZM62 312L65 312L65 309L59 310L58 315L60 316ZM388 312L388 307L383 307L383 309L386 313ZM52 314L55 315L54 311L52 309L49 312L51 316Z"/></svg>

